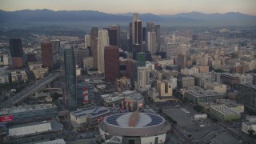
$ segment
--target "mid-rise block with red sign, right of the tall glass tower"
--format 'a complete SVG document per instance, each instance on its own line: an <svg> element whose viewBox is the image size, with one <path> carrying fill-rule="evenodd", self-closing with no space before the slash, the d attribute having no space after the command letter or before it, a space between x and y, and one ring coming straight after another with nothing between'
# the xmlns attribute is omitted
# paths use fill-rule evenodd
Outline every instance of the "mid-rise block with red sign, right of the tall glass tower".
<svg viewBox="0 0 256 144"><path fill-rule="evenodd" d="M77 84L77 106L94 104L94 85L86 82Z"/></svg>

